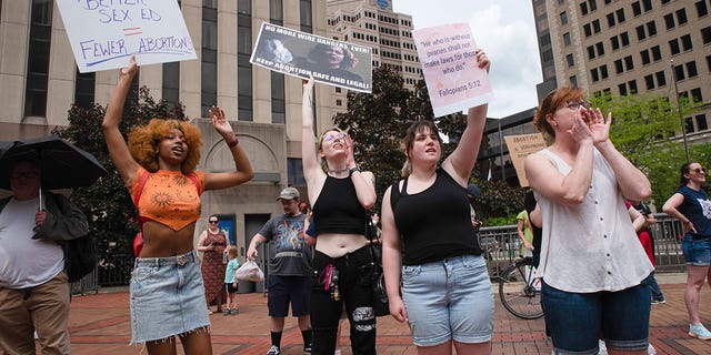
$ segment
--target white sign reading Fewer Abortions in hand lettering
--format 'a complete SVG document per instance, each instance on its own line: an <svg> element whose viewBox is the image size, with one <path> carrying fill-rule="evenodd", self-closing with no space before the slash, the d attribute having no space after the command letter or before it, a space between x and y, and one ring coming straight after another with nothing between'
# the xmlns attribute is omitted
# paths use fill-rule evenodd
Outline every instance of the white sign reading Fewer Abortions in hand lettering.
<svg viewBox="0 0 711 355"><path fill-rule="evenodd" d="M176 0L57 0L82 73L198 58Z"/></svg>

